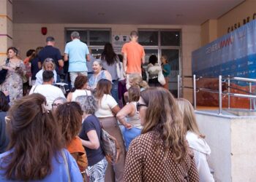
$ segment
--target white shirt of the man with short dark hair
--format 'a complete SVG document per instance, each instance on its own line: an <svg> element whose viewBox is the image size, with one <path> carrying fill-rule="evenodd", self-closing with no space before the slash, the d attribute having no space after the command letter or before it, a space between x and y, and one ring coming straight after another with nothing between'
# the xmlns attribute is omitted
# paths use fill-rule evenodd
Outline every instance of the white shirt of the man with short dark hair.
<svg viewBox="0 0 256 182"><path fill-rule="evenodd" d="M52 108L53 100L59 97L65 98L61 89L51 84L34 85L31 88L29 95L31 95L32 93L39 93L44 95L47 101L46 106L49 110Z"/></svg>

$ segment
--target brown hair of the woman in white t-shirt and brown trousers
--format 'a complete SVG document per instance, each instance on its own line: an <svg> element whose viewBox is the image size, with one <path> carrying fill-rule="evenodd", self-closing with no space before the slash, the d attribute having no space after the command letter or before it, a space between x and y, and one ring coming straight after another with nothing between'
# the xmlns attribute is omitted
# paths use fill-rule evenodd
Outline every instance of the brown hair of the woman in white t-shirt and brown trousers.
<svg viewBox="0 0 256 182"><path fill-rule="evenodd" d="M101 106L101 100L104 94L110 94L112 84L108 79L100 79L97 83L95 98L98 100L99 106Z"/></svg>

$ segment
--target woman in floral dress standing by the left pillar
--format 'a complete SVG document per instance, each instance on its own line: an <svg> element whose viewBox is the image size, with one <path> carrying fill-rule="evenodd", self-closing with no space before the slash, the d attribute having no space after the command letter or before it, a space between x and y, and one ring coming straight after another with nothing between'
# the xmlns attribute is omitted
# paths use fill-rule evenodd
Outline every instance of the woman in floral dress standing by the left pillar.
<svg viewBox="0 0 256 182"><path fill-rule="evenodd" d="M9 92L10 105L13 101L23 96L23 76L26 75L26 68L23 60L20 60L18 50L15 47L10 47L7 50L9 61L5 62L4 66L0 69L7 70L7 76L1 84L1 90Z"/></svg>

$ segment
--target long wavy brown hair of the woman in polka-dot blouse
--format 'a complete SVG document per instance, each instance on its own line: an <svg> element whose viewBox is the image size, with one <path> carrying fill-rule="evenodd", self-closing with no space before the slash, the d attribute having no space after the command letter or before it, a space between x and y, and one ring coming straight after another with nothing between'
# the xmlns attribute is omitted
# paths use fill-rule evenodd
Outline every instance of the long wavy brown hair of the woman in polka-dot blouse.
<svg viewBox="0 0 256 182"><path fill-rule="evenodd" d="M140 97L148 106L146 122L141 133L154 131L154 144L159 154L161 144L164 146L165 157L167 151L173 151L176 162L181 162L187 154L181 114L173 95L162 87L151 87L141 92Z"/></svg>

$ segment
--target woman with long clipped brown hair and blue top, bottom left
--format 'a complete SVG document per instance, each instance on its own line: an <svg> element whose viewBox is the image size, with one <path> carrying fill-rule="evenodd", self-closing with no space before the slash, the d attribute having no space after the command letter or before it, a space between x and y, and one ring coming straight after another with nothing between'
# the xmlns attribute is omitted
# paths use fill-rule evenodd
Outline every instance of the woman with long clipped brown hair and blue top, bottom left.
<svg viewBox="0 0 256 182"><path fill-rule="evenodd" d="M10 144L0 154L0 181L83 181L45 103L44 96L34 93L10 108L6 117Z"/></svg>

